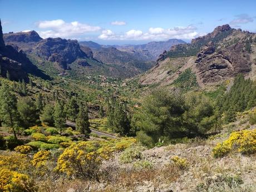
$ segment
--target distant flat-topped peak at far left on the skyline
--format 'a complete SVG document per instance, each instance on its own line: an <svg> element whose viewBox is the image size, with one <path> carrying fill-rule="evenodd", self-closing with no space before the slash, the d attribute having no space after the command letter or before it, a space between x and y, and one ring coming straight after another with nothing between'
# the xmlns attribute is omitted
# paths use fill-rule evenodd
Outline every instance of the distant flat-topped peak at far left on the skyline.
<svg viewBox="0 0 256 192"><path fill-rule="evenodd" d="M36 31L6 33L4 34L4 41L7 42L39 42L42 38Z"/></svg>

